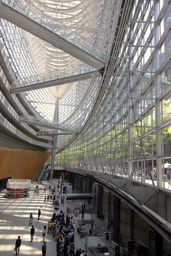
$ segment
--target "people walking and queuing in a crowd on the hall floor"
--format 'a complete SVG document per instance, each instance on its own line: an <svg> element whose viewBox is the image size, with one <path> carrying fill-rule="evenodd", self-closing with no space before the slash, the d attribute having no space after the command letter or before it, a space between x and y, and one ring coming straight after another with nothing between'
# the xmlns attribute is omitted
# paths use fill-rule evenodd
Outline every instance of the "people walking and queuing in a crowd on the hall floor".
<svg viewBox="0 0 171 256"><path fill-rule="evenodd" d="M58 184L58 190L60 189L60 186ZM52 205L54 206L54 209L58 207L59 209L59 200L55 200L55 188L51 189L51 186L49 185L49 190L44 188L44 202L52 202ZM56 191L58 192L58 191ZM34 189L34 195L39 195L39 185L36 185L36 188ZM46 195L47 194L47 195ZM62 202L63 203L63 202ZM82 205L82 209L85 209L85 206ZM70 207L67 207L67 216L66 216L66 222L65 222L65 214L63 213L63 210L61 209L59 214L53 213L52 218L48 221L47 225L43 226L42 229L42 256L46 256L46 233L52 234L52 237L56 241L56 252L57 256L86 256L87 254L82 250L81 248L76 250L75 252L75 245L74 245L74 236L73 236L73 229L70 228L70 221L69 221L69 215L71 213ZM38 210L38 221L40 220L41 216L41 209ZM29 215L29 225L32 225L33 221L33 213L31 212ZM46 227L47 226L47 227ZM35 234L35 228L34 225L31 226L30 229L30 236L31 236L31 242L33 242ZM48 235L48 236L49 236ZM16 255L20 251L21 246L21 239L20 236L18 236L18 239L15 243L15 253Z"/></svg>

